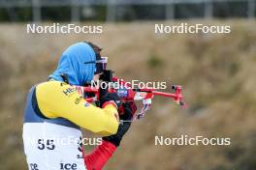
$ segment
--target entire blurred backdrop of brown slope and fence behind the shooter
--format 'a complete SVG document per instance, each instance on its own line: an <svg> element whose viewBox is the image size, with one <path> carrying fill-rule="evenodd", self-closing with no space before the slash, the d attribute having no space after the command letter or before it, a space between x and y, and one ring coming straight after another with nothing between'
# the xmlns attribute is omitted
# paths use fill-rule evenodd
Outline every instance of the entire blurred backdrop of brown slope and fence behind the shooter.
<svg viewBox="0 0 256 170"><path fill-rule="evenodd" d="M0 0L0 170L27 169L26 94L54 71L66 47L82 41L104 48L116 76L182 85L188 104L181 109L156 97L106 170L255 170L255 9L256 0ZM103 33L27 34L32 22L103 25ZM154 34L155 23L181 22L228 24L232 32ZM155 146L156 135L181 134L230 137L231 145Z"/></svg>

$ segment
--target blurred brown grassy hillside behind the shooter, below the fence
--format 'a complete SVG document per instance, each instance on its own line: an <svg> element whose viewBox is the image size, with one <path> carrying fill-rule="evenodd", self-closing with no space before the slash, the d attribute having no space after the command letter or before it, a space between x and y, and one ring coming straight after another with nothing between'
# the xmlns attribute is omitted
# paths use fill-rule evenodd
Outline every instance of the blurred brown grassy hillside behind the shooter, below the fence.
<svg viewBox="0 0 256 170"><path fill-rule="evenodd" d="M256 22L214 23L231 24L232 33L155 35L153 23L133 22L104 25L102 35L28 35L24 24L1 24L0 169L26 169L21 137L26 93L47 79L69 44L85 40L103 46L117 76L180 84L188 103L181 109L156 98L106 169L256 169ZM231 146L154 145L155 135L181 134L230 137Z"/></svg>

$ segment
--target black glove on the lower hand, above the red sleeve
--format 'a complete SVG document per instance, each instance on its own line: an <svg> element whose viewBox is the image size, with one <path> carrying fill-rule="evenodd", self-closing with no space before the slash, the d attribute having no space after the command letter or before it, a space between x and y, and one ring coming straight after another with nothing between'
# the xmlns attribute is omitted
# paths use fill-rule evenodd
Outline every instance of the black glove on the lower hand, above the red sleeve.
<svg viewBox="0 0 256 170"><path fill-rule="evenodd" d="M132 123L131 121L133 118L133 111L132 111L131 105L129 103L123 103L122 106L124 108L124 114L120 115L120 117L119 117L120 124L119 124L116 134L102 138L103 140L111 142L116 147L118 147L120 145L123 135L131 127L131 123Z"/></svg>

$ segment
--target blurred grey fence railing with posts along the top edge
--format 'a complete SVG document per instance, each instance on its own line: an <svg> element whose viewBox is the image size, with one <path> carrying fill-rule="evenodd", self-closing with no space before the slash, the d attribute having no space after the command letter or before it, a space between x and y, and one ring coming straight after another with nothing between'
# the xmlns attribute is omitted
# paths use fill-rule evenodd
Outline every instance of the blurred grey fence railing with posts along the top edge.
<svg viewBox="0 0 256 170"><path fill-rule="evenodd" d="M116 20L116 9L118 6L132 5L162 5L165 7L163 19L175 19L176 5L178 4L203 4L204 16L214 17L213 3L244 2L247 4L246 17L255 17L256 0L0 0L0 8L31 8L32 20L42 20L43 7L71 7L71 20L80 21L80 7L106 6L107 21Z"/></svg>

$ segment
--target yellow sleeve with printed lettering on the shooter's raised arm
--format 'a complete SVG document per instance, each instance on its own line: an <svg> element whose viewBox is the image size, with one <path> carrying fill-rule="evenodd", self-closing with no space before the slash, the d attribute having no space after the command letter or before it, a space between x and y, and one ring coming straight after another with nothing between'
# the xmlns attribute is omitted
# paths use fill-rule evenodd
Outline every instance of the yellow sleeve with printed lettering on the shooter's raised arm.
<svg viewBox="0 0 256 170"><path fill-rule="evenodd" d="M48 118L65 118L81 128L103 135L115 134L118 114L112 104L96 107L80 97L75 87L59 81L48 81L36 87L38 106Z"/></svg>

